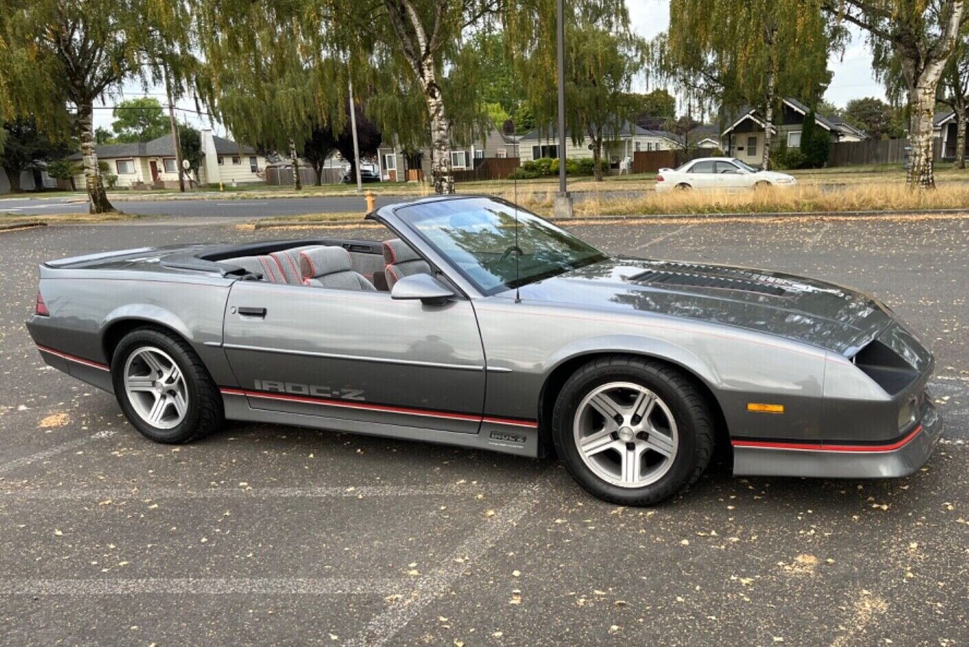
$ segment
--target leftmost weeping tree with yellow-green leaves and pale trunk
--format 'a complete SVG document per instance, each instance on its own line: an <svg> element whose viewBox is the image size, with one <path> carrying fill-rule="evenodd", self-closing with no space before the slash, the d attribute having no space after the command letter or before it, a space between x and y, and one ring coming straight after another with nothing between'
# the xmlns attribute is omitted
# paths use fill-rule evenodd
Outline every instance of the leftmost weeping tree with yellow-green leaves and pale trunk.
<svg viewBox="0 0 969 647"><path fill-rule="evenodd" d="M126 81L181 78L177 3L153 0L0 0L0 104L49 136L80 142L92 213L113 210L98 172L94 103Z"/></svg>

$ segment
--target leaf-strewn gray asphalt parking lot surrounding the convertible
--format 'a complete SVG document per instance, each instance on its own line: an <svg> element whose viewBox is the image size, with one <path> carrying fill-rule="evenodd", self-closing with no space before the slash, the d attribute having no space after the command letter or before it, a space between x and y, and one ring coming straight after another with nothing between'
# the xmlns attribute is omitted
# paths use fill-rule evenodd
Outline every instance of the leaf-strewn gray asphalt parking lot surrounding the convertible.
<svg viewBox="0 0 969 647"><path fill-rule="evenodd" d="M0 644L969 642L969 219L575 230L880 295L936 353L942 444L892 481L738 479L721 462L650 509L591 499L554 460L416 442L235 424L156 445L45 367L22 324L37 264L288 234L0 234Z"/></svg>

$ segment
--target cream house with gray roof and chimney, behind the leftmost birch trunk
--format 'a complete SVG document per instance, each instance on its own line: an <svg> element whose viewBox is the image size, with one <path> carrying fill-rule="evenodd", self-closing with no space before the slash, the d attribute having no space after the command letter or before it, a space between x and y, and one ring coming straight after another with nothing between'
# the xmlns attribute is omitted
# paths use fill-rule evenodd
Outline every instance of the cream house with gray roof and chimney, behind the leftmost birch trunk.
<svg viewBox="0 0 969 647"><path fill-rule="evenodd" d="M216 137L211 130L201 132L202 164L197 178L200 184L234 185L265 181L266 158L252 146L243 146ZM114 176L115 186L129 188L177 188L178 167L172 135L163 135L150 142L130 144L101 144L95 146L99 162L106 162L108 175ZM80 160L80 153L68 159ZM83 174L75 178L77 186L84 185Z"/></svg>

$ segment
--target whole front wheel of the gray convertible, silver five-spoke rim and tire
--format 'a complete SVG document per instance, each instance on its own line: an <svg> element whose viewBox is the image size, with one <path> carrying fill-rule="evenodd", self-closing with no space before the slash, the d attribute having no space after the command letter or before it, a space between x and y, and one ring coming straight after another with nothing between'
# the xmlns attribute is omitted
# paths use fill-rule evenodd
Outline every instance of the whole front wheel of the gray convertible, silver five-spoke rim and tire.
<svg viewBox="0 0 969 647"><path fill-rule="evenodd" d="M552 437L582 487L624 505L649 505L688 487L714 444L713 418L694 381L626 355L599 358L566 381Z"/></svg>

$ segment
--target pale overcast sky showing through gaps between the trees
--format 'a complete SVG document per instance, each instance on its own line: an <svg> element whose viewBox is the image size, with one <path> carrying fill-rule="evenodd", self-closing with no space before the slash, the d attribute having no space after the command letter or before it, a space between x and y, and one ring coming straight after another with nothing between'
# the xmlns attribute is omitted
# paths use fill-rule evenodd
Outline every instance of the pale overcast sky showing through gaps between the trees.
<svg viewBox="0 0 969 647"><path fill-rule="evenodd" d="M664 31L670 25L670 1L669 0L625 0L632 18L633 29L644 38L652 38ZM838 52L828 60L828 69L834 73L834 77L825 93L825 99L835 106L844 107L852 99L860 97L878 97L885 99L885 88L881 83L875 81L871 73L871 52L865 46L864 39L858 32L854 32L854 38L845 51ZM637 81L638 90L652 89L645 87L645 81ZM165 103L164 88L153 88L152 93L161 103ZM143 96L141 86L137 83L131 84L126 88L123 98ZM108 102L114 105L114 101ZM203 120L197 114L188 111L195 110L195 104L191 100L181 101L179 108L185 109L176 113L180 121L187 119L189 123L196 127L212 127L207 118ZM111 111L96 110L94 115L95 126L110 128ZM225 128L220 124L215 124L216 135L227 135Z"/></svg>

